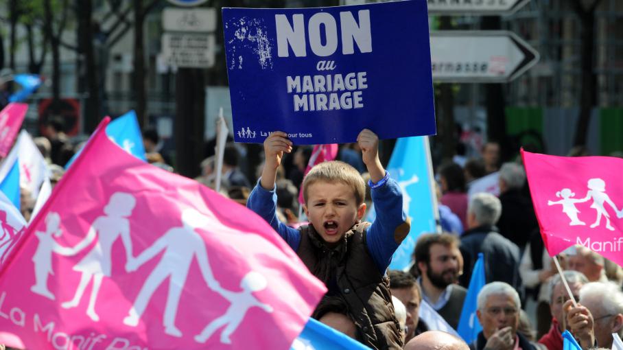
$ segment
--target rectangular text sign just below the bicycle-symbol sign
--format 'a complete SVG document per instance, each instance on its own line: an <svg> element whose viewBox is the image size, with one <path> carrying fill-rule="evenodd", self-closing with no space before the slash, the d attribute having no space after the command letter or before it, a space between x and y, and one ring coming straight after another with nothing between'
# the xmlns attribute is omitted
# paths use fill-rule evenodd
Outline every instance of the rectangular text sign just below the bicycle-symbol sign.
<svg viewBox="0 0 623 350"><path fill-rule="evenodd" d="M215 61L214 34L165 33L162 35L162 56L169 65L188 68L209 68Z"/></svg>

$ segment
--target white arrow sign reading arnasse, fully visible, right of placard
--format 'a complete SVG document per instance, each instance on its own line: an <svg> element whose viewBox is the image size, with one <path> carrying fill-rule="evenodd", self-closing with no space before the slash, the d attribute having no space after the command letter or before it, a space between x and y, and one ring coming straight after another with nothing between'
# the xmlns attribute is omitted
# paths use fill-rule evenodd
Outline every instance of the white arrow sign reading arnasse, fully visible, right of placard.
<svg viewBox="0 0 623 350"><path fill-rule="evenodd" d="M539 61L513 32L439 31L430 35L434 82L510 82Z"/></svg>

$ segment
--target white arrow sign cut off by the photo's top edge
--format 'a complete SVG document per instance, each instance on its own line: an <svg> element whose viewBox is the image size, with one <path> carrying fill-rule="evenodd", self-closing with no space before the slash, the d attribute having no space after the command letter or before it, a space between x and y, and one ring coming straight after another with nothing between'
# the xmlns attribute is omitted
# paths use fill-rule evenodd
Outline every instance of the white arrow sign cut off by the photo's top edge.
<svg viewBox="0 0 623 350"><path fill-rule="evenodd" d="M512 14L530 0L428 0L429 14Z"/></svg>

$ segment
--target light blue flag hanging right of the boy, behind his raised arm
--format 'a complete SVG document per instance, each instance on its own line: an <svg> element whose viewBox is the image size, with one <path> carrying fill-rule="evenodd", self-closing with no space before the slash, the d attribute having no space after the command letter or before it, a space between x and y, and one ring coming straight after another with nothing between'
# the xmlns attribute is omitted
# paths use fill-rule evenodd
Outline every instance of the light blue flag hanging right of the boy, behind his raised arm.
<svg viewBox="0 0 623 350"><path fill-rule="evenodd" d="M422 233L436 232L436 196L427 137L398 139L387 166L402 190L403 209L411 218L411 231L392 257L390 269L405 270L412 264L415 242ZM368 217L369 218L369 217Z"/></svg>

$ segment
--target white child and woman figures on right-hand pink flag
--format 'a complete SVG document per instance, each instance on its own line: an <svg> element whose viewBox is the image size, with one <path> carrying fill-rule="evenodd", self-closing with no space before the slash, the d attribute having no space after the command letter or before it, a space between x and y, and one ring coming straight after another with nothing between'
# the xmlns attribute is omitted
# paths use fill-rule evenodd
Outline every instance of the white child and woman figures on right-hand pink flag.
<svg viewBox="0 0 623 350"><path fill-rule="evenodd" d="M614 231L614 227L610 223L610 214L608 213L605 205L609 205L615 212L618 219L623 218L623 209L618 210L614 202L610 199L610 196L606 194L606 182L601 178L591 178L588 180L588 191L584 198L574 198L576 194L569 188L563 188L556 192L556 197L561 200L548 200L548 205L561 205L563 207L563 213L569 218L569 226L583 226L586 222L583 222L578 218L578 214L581 213L576 204L587 202L592 200L591 208L595 209L597 218L595 222L590 225L591 229L595 229L600 226L602 217L606 219L606 229Z"/></svg>

